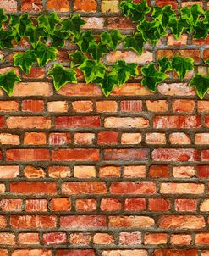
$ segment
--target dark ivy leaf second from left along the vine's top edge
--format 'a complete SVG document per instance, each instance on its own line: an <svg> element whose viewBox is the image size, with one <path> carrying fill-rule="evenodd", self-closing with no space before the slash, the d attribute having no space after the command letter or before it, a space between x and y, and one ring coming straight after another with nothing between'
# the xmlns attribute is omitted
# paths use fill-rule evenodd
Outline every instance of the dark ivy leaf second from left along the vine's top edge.
<svg viewBox="0 0 209 256"><path fill-rule="evenodd" d="M19 36L25 36L27 28L33 26L29 14L22 14L21 16L12 15L8 25L14 28Z"/></svg>

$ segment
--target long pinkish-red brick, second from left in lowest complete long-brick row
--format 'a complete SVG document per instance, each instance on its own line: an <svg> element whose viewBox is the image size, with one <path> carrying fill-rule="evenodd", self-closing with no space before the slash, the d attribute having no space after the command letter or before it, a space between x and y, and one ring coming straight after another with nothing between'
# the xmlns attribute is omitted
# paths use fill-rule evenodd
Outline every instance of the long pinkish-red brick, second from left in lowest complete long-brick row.
<svg viewBox="0 0 209 256"><path fill-rule="evenodd" d="M70 215L60 217L60 227L63 228L102 228L106 226L105 215Z"/></svg>

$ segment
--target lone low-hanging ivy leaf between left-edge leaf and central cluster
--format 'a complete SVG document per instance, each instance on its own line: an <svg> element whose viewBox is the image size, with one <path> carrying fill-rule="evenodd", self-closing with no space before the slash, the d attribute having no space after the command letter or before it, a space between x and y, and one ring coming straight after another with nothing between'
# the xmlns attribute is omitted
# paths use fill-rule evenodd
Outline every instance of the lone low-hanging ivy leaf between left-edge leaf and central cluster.
<svg viewBox="0 0 209 256"><path fill-rule="evenodd" d="M61 87L67 83L76 83L76 72L72 69L64 69L61 64L55 64L52 70L47 72L47 75L52 76L53 85L58 91Z"/></svg>

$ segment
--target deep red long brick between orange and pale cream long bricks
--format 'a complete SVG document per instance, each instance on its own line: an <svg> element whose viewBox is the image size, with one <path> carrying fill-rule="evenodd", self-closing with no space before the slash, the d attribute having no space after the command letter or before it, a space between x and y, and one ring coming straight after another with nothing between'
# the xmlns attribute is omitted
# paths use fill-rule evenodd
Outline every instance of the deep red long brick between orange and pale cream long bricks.
<svg viewBox="0 0 209 256"><path fill-rule="evenodd" d="M68 127L99 127L99 116L59 116L55 119L55 126L58 128Z"/></svg>

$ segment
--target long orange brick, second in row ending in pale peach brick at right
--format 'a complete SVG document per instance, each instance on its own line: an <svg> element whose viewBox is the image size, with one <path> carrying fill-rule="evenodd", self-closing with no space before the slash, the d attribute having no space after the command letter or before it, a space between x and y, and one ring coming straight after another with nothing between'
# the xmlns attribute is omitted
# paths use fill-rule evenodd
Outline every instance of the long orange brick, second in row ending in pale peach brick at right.
<svg viewBox="0 0 209 256"><path fill-rule="evenodd" d="M62 184L64 194L103 194L106 192L104 182L64 182Z"/></svg>

